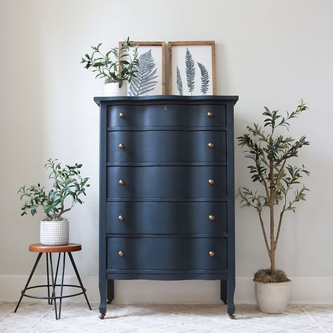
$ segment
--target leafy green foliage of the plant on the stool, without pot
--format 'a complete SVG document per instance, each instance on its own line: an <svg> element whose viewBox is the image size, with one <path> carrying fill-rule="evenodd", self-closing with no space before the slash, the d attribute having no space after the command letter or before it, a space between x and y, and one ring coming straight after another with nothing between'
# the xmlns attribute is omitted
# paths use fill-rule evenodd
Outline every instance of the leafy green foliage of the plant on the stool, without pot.
<svg viewBox="0 0 333 333"><path fill-rule="evenodd" d="M49 220L63 220L63 214L70 211L74 204L83 203L80 197L86 195L86 188L89 187L89 178L80 175L81 166L77 163L63 166L58 159L48 159L45 168L51 170L48 179L53 181L52 188L46 192L39 183L30 187L22 186L18 190L20 200L27 198L27 201L23 204L21 215L27 215L30 211L34 216L37 208L41 207Z"/></svg>

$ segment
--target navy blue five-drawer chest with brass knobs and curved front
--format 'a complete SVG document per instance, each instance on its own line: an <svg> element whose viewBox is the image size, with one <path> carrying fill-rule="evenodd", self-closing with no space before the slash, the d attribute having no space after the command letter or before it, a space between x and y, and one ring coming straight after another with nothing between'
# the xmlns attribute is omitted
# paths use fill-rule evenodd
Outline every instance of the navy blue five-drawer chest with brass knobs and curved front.
<svg viewBox="0 0 333 333"><path fill-rule="evenodd" d="M96 97L100 318L114 280L221 280L235 305L237 96Z"/></svg>

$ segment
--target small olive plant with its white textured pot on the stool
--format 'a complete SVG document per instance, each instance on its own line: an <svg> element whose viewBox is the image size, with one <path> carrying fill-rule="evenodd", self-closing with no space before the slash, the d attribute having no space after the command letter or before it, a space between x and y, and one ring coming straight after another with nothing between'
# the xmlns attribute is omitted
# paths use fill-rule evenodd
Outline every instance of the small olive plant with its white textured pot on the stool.
<svg viewBox="0 0 333 333"><path fill-rule="evenodd" d="M27 215L30 211L32 216L37 213L38 207L43 209L46 217L41 221L40 242L43 245L65 245L69 242L70 225L63 217L74 204L82 204L82 195L86 195L89 187L89 178L82 178L80 174L82 164L62 166L58 159L48 159L46 169L50 169L49 179L53 181L52 188L45 191L41 184L22 186L20 200L26 198L21 215Z"/></svg>

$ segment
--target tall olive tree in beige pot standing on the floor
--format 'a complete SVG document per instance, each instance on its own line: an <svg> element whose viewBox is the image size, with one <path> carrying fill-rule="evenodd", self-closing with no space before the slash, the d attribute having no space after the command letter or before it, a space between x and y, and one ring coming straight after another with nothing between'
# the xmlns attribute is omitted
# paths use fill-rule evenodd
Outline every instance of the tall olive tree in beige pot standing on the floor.
<svg viewBox="0 0 333 333"><path fill-rule="evenodd" d="M299 150L309 144L306 137L294 140L276 132L280 129L289 131L289 121L306 109L308 107L303 100L294 112L286 112L285 116L278 110L270 111L265 107L263 126L247 126L247 133L237 138L251 161L247 166L251 179L261 188L241 187L237 197L240 197L242 207L252 207L258 213L270 259L270 268L254 274L256 300L260 310L266 313L282 313L287 308L291 280L283 270L276 268L275 252L285 214L295 212L296 203L306 200L308 188L301 185L301 178L309 175L303 164L289 164Z"/></svg>

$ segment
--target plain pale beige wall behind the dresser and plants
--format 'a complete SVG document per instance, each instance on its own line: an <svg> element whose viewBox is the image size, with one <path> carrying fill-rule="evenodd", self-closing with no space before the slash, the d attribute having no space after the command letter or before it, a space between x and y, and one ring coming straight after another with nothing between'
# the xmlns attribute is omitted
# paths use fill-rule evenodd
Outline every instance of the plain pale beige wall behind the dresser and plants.
<svg viewBox="0 0 333 333"><path fill-rule="evenodd" d="M77 254L81 273L97 275L98 107L93 96L102 93L103 83L79 60L98 41L117 46L127 35L147 41L214 39L216 91L240 96L236 136L261 119L263 105L292 110L299 98L306 100L310 110L293 122L292 135L306 134L311 141L299 159L311 170L306 179L311 192L296 214L285 216L278 266L293 277L333 277L332 15L329 0L0 0L0 277L24 277L32 265L27 245L39 239L41 214L20 217L16 192L25 183L46 182L48 157L81 162L91 177L86 203L68 217L71 240L84 246ZM247 160L239 148L235 155L236 186L249 185ZM238 277L250 277L268 266L268 258L256 214L238 207L236 271ZM132 282L134 294L138 283ZM148 289L150 283L145 282ZM155 299L163 300L172 286L184 283L166 282L163 290L154 289ZM211 294L218 290L215 282L198 283ZM117 284L119 293L122 286ZM183 300L190 301L190 295Z"/></svg>

